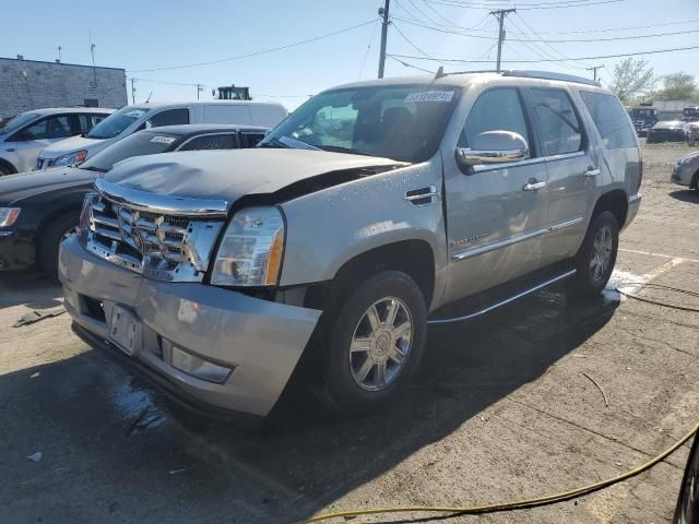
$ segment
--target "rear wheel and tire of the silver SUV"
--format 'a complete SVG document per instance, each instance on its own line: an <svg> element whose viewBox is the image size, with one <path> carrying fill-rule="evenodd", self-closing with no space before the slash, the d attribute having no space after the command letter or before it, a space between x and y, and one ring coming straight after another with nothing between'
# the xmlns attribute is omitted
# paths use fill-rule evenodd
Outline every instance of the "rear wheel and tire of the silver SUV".
<svg viewBox="0 0 699 524"><path fill-rule="evenodd" d="M600 295L614 271L618 248L619 224L612 212L603 211L593 218L576 254L573 291L583 297Z"/></svg>

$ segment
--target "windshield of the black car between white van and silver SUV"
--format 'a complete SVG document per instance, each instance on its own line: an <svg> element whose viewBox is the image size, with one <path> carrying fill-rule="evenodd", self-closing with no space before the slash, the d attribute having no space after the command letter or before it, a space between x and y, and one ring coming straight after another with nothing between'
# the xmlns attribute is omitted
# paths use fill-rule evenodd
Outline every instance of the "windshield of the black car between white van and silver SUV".
<svg viewBox="0 0 699 524"><path fill-rule="evenodd" d="M179 134L141 131L100 151L85 160L80 168L105 172L110 170L117 162L132 156L154 155L171 151L179 144L180 140L181 135Z"/></svg>

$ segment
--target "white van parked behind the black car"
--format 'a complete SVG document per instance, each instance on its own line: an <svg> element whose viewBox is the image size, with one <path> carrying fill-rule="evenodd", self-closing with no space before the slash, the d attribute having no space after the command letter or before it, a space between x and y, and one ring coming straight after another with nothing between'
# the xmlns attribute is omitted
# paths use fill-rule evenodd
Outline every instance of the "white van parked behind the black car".
<svg viewBox="0 0 699 524"><path fill-rule="evenodd" d="M182 123L235 123L273 128L288 111L281 104L248 100L140 104L122 107L84 136L51 144L39 153L35 169L82 164L85 158L142 129Z"/></svg>

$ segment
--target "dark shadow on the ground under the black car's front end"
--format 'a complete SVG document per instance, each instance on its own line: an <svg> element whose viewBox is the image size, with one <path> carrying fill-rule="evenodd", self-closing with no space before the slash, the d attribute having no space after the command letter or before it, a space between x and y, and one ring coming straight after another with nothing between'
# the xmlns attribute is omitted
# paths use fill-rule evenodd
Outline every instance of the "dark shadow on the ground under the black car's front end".
<svg viewBox="0 0 699 524"><path fill-rule="evenodd" d="M31 298L27 298L31 297ZM47 309L63 303L59 283L35 272L0 273L0 309L25 305Z"/></svg>

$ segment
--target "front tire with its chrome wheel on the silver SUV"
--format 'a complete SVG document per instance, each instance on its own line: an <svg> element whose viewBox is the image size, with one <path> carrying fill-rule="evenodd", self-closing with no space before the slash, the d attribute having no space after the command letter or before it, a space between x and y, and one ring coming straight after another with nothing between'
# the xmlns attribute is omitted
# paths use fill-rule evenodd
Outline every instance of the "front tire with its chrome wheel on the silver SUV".
<svg viewBox="0 0 699 524"><path fill-rule="evenodd" d="M369 277L348 293L330 326L325 403L343 415L384 407L419 367L426 334L427 309L417 284L399 271Z"/></svg>

